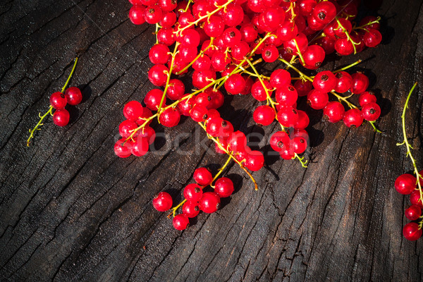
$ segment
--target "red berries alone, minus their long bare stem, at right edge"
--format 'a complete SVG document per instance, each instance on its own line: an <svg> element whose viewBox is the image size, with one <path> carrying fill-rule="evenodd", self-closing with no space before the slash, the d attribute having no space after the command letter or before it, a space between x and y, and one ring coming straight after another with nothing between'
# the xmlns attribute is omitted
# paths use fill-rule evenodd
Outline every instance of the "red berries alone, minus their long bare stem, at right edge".
<svg viewBox="0 0 423 282"><path fill-rule="evenodd" d="M419 175L423 176L423 171L419 172ZM420 186L423 186L423 179L419 179ZM410 173L405 173L395 181L395 188L398 193L403 195L410 195L411 206L405 209L405 217L410 221L417 221L422 219L420 223L410 222L405 224L403 228L403 235L407 240L414 241L422 237L422 195L420 190L417 188L417 178Z"/></svg>

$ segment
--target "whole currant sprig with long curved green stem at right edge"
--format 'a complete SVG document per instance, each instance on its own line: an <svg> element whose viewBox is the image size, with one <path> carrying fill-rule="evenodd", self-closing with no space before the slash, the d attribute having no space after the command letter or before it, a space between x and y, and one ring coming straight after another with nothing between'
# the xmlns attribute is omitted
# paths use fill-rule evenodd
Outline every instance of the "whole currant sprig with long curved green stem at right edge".
<svg viewBox="0 0 423 282"><path fill-rule="evenodd" d="M407 147L407 156L410 157L412 162L412 166L414 168L414 173L416 176L413 176L410 173L405 173L395 181L395 189L402 195L410 195L410 202L411 206L405 209L405 217L410 219L410 221L418 221L417 222L410 222L405 224L403 228L403 235L405 239L414 241L422 237L422 228L423 228L423 216L422 216L422 209L423 209L423 171L419 171L417 169L416 161L414 157L412 157L411 149L412 147L408 143L407 135L405 133L405 109L407 109L408 101L411 97L413 90L417 86L417 82L413 85L410 93L408 94L407 100L405 101L403 116L401 116L403 120L403 135L404 141L402 143L398 143L397 145L405 145Z"/></svg>

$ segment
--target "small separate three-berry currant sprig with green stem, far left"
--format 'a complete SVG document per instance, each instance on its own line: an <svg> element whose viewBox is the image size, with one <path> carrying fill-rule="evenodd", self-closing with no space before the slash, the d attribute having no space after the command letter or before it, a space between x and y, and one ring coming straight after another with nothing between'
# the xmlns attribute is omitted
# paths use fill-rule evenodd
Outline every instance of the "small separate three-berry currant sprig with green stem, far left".
<svg viewBox="0 0 423 282"><path fill-rule="evenodd" d="M76 106L80 104L80 102L82 102L82 93L78 87L69 87L68 89L66 89L73 75L73 71L75 71L76 63L78 63L78 58L75 58L75 63L73 63L71 74L69 75L68 80L61 89L61 92L54 92L53 94L51 94L49 110L43 116L39 114L39 121L37 125L35 125L35 128L30 129L30 137L28 137L27 139L28 147L30 146L30 141L32 137L34 137L35 130L39 130L39 126L43 125L42 121L46 116L48 116L49 114L53 116L53 122L55 125L61 127L66 126L68 125L69 118L71 117L69 115L68 110L65 109L66 105L70 104L71 106ZM53 109L55 109L55 111L53 111Z"/></svg>

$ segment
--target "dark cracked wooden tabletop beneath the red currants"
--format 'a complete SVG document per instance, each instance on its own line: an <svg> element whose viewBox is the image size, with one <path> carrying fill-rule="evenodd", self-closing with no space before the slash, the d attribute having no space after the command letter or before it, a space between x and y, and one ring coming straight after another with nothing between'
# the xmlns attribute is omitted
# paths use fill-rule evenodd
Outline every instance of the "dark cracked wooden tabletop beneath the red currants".
<svg viewBox="0 0 423 282"><path fill-rule="evenodd" d="M196 167L216 171L225 158L211 142L200 146L204 133L188 119L174 130L157 127L168 143L157 140L156 154L115 156L123 105L152 89L154 27L130 23L129 8L125 0L0 5L2 281L423 280L423 240L403 238L410 202L393 188L412 168L396 143L406 94L413 82L423 83L422 1L384 1L377 11L381 46L333 56L324 66L366 60L355 70L371 79L384 133L320 122L318 114L309 128L308 168L266 157L268 165L253 173L255 191L231 166L235 194L183 232L153 209L152 198L165 190L178 202ZM59 128L50 118L25 147L77 54L71 85L82 87L84 102L71 111L70 125ZM252 97L227 102L223 116L235 128L267 136L277 130L253 126ZM422 87L406 124L423 168Z"/></svg>

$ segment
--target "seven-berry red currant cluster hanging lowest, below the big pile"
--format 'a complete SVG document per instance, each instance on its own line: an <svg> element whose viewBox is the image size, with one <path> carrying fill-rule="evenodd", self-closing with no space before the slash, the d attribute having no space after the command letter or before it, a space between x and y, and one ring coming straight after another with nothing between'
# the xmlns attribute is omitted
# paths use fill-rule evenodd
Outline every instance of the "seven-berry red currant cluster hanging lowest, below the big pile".
<svg viewBox="0 0 423 282"><path fill-rule="evenodd" d="M189 219L197 216L200 211L207 214L216 212L221 198L231 196L234 191L232 180L226 177L217 179L212 185L216 176L213 178L212 173L204 167L197 168L193 178L196 183L188 184L183 190L185 200L173 208L173 227L177 230L185 230L190 223ZM207 186L212 187L214 192L203 192ZM168 211L172 204L172 197L168 192L159 192L153 200L153 207L159 212ZM180 206L182 206L182 214L175 215Z"/></svg>

